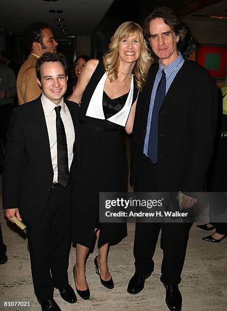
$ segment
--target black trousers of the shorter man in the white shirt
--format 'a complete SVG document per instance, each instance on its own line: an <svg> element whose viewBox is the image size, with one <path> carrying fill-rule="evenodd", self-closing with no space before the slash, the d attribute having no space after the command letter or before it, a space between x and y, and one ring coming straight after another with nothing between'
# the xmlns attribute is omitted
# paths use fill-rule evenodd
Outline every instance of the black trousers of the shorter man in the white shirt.
<svg viewBox="0 0 227 311"><path fill-rule="evenodd" d="M51 190L46 209L37 222L27 226L33 285L37 298L51 299L55 288L68 284L70 251L71 184Z"/></svg>

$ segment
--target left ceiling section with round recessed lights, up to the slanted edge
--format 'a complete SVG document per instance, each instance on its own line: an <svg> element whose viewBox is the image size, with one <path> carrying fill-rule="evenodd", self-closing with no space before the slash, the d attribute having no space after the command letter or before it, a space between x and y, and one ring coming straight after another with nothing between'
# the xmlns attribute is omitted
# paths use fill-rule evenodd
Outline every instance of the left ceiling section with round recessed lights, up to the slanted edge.
<svg viewBox="0 0 227 311"><path fill-rule="evenodd" d="M67 25L68 36L91 36L114 0L0 0L0 35L21 35L23 29L34 21L47 22L55 37L62 36ZM50 13L49 10L63 10ZM64 21L54 21L64 18Z"/></svg>

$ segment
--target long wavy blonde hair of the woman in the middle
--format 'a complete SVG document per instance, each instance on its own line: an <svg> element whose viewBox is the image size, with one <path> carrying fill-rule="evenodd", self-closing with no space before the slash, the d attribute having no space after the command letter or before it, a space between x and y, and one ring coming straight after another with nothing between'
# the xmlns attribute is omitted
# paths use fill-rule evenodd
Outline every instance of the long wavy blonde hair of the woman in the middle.
<svg viewBox="0 0 227 311"><path fill-rule="evenodd" d="M123 38L131 37L134 34L138 35L141 52L133 68L133 74L135 76L136 87L141 91L146 82L149 68L154 60L150 56L150 50L143 36L143 30L137 23L127 21L118 27L110 39L109 51L104 55L103 63L110 82L116 81L118 79L119 69L119 42Z"/></svg>

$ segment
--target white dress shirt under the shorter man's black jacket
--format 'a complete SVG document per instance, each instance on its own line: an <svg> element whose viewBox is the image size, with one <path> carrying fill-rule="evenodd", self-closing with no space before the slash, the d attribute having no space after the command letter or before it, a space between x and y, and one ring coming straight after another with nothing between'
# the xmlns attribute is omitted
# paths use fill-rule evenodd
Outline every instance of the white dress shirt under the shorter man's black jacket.
<svg viewBox="0 0 227 311"><path fill-rule="evenodd" d="M44 110L46 126L49 136L50 154L53 167L53 182L58 182L58 149L56 139L56 113L54 108L61 106L61 118L65 127L67 148L68 148L68 163L69 170L73 159L73 144L75 141L75 132L72 122L72 117L68 107L62 99L59 105L55 105L53 102L48 100L43 94L41 96L41 102Z"/></svg>

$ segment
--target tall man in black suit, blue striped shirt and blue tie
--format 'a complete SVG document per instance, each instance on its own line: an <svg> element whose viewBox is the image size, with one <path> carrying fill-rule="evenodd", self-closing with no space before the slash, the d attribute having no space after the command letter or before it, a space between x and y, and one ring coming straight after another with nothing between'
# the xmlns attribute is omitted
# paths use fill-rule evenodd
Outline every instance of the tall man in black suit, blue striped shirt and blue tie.
<svg viewBox="0 0 227 311"><path fill-rule="evenodd" d="M213 149L217 89L209 75L184 59L186 28L174 11L160 7L145 20L145 36L159 63L152 66L135 112L131 141L130 183L138 192L184 193L180 209L191 208L200 192ZM194 206L194 208L196 205ZM161 229L161 282L166 304L181 310L181 282L189 224L137 223L134 240L135 274L128 292L137 294L154 270L153 255Z"/></svg>

